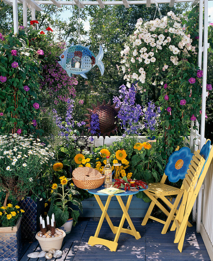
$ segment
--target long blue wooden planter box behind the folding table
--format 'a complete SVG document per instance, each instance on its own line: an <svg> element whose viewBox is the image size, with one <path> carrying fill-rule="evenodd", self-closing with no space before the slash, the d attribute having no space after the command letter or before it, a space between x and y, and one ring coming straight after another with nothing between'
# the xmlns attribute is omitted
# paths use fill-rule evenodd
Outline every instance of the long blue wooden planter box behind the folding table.
<svg viewBox="0 0 213 261"><path fill-rule="evenodd" d="M100 199L103 205L105 205L107 196L100 196ZM127 196L122 197L124 205L126 205L127 199L128 199ZM80 211L80 217L101 217L102 211L95 197L83 200L82 206L83 206L83 214ZM71 208L78 210L78 207L73 204ZM143 199L137 198L136 195L133 195L128 213L130 217L142 218L145 217L148 208L149 208L149 203L145 203ZM123 211L121 210L121 207L116 197L112 197L107 210L107 214L109 215L109 217L122 217Z"/></svg>

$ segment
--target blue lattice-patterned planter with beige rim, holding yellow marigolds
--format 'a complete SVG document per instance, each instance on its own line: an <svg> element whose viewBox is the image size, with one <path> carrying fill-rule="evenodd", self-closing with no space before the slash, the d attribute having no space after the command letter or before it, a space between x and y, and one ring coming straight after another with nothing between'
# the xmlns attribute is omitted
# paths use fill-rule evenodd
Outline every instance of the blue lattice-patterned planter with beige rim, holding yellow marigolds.
<svg viewBox="0 0 213 261"><path fill-rule="evenodd" d="M0 228L0 261L18 261L21 252L21 219L15 227Z"/></svg>

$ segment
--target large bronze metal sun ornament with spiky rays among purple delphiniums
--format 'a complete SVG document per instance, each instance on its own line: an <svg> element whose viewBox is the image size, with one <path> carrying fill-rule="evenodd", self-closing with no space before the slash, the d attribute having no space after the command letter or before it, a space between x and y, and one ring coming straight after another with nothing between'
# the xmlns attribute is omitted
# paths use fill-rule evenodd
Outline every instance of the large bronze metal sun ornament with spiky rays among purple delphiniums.
<svg viewBox="0 0 213 261"><path fill-rule="evenodd" d="M106 135L110 137L110 133L112 132L113 134L115 133L115 130L117 130L117 124L118 124L118 118L116 117L118 115L118 111L120 110L119 108L115 108L117 103L114 103L111 105L111 100L106 104L106 101L104 100L103 103L101 104L99 101L97 101L97 106L92 104L92 109L87 109L89 111L89 114L84 114L87 116L86 122L88 124L85 127L89 127L89 131L91 131L91 116L92 114L96 113L98 114L99 118L99 129L100 129L100 134L105 138ZM98 138L100 135L98 134Z"/></svg>

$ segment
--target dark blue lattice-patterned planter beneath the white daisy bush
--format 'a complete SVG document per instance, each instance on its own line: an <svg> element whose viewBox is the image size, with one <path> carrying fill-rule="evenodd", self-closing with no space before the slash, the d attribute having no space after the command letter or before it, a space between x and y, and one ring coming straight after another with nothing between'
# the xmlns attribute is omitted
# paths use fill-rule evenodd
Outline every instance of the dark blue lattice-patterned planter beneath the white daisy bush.
<svg viewBox="0 0 213 261"><path fill-rule="evenodd" d="M22 239L35 240L36 232L40 231L39 217L44 216L44 199L35 202L27 197L20 201L20 207L25 211L21 221Z"/></svg>

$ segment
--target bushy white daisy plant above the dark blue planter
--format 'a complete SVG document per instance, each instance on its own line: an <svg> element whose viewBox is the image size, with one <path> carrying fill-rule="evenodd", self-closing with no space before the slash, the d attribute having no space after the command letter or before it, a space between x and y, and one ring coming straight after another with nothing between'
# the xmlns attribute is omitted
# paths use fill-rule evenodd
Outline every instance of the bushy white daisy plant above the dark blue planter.
<svg viewBox="0 0 213 261"><path fill-rule="evenodd" d="M39 173L54 153L32 136L18 134L0 136L0 190L16 200L25 197L39 184Z"/></svg>

